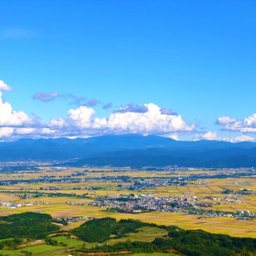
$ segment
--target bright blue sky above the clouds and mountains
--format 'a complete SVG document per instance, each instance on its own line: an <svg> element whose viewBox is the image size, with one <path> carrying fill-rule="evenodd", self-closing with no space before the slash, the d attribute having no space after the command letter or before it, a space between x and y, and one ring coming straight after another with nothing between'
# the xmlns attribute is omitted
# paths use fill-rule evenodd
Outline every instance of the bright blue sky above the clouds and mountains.
<svg viewBox="0 0 256 256"><path fill-rule="evenodd" d="M0 9L0 80L12 87L3 90L2 98L12 111L24 111L32 119L32 112L39 116L41 128L56 129L49 126L51 118L69 118L67 112L80 106L70 102L82 97L77 102L96 112L90 118L108 119L128 103L133 103L132 113L136 106L154 103L178 113L186 127L193 126L138 129L141 134L255 139L255 2L1 1ZM58 96L49 102L40 100L42 94L33 99L36 93L55 92ZM88 105L91 99L99 103ZM110 102L112 108L102 109ZM84 118L88 109L79 117ZM22 136L15 135L16 128L39 125L32 121L1 124L1 115L0 125L14 129L8 136L3 132L3 139ZM230 120L215 124L223 116ZM126 118L131 117L126 114ZM124 124L123 131L101 124L101 132L93 132L93 127L86 132L88 125L83 124L79 134L76 129L81 123L75 120L72 124L66 120L65 133L52 136L137 131L130 123L128 128ZM163 126L171 120L167 118Z"/></svg>

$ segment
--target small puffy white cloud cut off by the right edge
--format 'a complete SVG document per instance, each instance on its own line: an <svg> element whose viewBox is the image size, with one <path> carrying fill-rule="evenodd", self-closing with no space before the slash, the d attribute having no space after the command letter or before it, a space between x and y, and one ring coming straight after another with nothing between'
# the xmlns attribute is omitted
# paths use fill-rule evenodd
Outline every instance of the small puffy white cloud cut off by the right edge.
<svg viewBox="0 0 256 256"><path fill-rule="evenodd" d="M219 117L217 119L217 124L224 125L223 130L226 131L256 133L256 113L244 118L243 120Z"/></svg>

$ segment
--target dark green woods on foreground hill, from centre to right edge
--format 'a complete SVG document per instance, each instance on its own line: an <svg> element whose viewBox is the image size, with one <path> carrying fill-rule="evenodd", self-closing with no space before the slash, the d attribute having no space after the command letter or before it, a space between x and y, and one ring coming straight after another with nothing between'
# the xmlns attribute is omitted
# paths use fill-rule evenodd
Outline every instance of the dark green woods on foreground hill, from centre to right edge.
<svg viewBox="0 0 256 256"><path fill-rule="evenodd" d="M127 225L126 225L127 224ZM92 228L82 228L91 226ZM167 252L175 249L191 256L232 256L255 255L256 239L233 238L224 234L212 234L203 230L183 230L176 226L158 226L134 220L99 219L93 220L89 225L83 224L75 231L76 236L87 242L102 242L109 238L110 233L124 236L125 233L136 232L141 226L156 226L168 230L168 236L157 238L153 242L121 242L114 245L96 246L91 249L82 248L78 252L119 252L131 251L133 253ZM92 240L88 239L93 237ZM84 239L85 238L85 239Z"/></svg>

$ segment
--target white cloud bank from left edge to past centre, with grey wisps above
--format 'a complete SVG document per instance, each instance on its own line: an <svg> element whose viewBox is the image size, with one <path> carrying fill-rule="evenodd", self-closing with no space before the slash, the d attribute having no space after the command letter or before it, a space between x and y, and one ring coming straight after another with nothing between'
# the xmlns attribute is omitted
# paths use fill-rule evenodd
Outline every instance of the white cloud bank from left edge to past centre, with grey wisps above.
<svg viewBox="0 0 256 256"><path fill-rule="evenodd" d="M38 116L29 117L24 111L13 111L11 104L2 99L3 91L10 91L3 81L0 81L0 137L88 137L104 134L155 134L172 135L192 133L194 124L187 124L181 115L171 110L161 109L154 103L127 104L121 106L108 117L98 118L93 106L100 103L95 99L78 98L71 94L37 93L33 99L49 102L58 97L68 98L81 104L78 108L70 109L66 117L51 118L45 123ZM111 108L112 103L103 105L104 109Z"/></svg>

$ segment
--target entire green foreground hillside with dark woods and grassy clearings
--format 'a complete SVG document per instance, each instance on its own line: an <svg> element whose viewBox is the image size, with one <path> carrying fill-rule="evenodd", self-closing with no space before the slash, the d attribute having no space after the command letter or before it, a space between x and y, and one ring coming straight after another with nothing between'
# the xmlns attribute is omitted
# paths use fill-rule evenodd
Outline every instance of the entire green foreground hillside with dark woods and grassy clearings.
<svg viewBox="0 0 256 256"><path fill-rule="evenodd" d="M102 252L102 255L175 252L183 255L230 256L252 255L256 250L255 239L252 238L232 238L131 219L93 219L68 231L61 231L61 227L67 224L65 220L34 212L1 217L0 221L0 252L11 255L39 252L53 255L67 255L68 252L84 255L97 252ZM143 230L154 236L146 236ZM133 241L134 235L136 241ZM31 246L35 244L37 246Z"/></svg>

